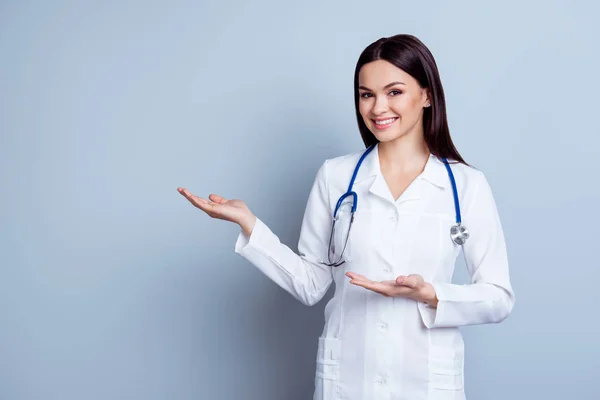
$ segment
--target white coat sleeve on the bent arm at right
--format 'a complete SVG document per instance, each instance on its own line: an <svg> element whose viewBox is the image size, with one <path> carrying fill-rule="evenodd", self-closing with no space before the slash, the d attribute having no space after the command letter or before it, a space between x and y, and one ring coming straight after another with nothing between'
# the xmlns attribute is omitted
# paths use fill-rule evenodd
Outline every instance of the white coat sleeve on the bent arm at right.
<svg viewBox="0 0 600 400"><path fill-rule="evenodd" d="M492 190L481 172L464 225L470 233L462 251L471 283L431 282L439 303L419 303L428 328L498 323L511 313L515 295L508 272L504 233Z"/></svg>

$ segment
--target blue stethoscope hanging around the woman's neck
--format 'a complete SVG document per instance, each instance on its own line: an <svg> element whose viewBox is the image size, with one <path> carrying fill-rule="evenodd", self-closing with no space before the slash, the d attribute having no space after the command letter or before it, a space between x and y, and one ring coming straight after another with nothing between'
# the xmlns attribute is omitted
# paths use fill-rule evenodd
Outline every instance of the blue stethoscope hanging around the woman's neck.
<svg viewBox="0 0 600 400"><path fill-rule="evenodd" d="M370 146L365 152L362 154L356 167L354 168L354 173L352 174L352 179L350 180L350 185L348 185L348 190L344 193L335 206L335 210L333 212L333 222L331 224L331 234L329 235L329 251L328 251L328 261L321 261L322 264L328 265L330 267L338 267L345 263L343 260L344 252L346 251L346 245L348 244L348 238L350 237L350 230L352 229L352 223L354 222L354 213L356 212L356 208L358 207L358 195L356 192L352 190L354 186L354 181L356 180L356 175L358 174L358 170L365 159L365 157L375 148L375 145ZM456 181L454 180L454 174L452 173L452 168L450 168L450 164L446 158L442 158L444 165L446 166L446 171L448 171L448 177L450 178L450 184L452 185L452 194L454 195L454 212L456 217L456 224L452 225L450 228L450 238L454 243L459 246L465 244L467 239L469 238L469 230L462 225L462 218L460 214L460 202L458 201L458 189L456 188ZM348 226L348 231L346 233L346 240L344 241L342 252L339 257L335 257L335 245L333 244L333 237L335 234L335 225L339 219L338 211L343 203L343 201L347 198L352 198L352 210L350 215L350 225ZM332 259L333 258L333 259Z"/></svg>

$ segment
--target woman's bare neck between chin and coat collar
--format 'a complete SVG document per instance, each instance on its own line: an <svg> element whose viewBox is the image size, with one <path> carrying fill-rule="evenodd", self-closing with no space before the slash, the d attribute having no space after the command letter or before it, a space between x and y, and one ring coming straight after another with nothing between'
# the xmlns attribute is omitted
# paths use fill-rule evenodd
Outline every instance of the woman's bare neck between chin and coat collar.
<svg viewBox="0 0 600 400"><path fill-rule="evenodd" d="M379 165L382 170L405 172L422 170L429 159L429 148L422 135L405 135L379 143Z"/></svg>

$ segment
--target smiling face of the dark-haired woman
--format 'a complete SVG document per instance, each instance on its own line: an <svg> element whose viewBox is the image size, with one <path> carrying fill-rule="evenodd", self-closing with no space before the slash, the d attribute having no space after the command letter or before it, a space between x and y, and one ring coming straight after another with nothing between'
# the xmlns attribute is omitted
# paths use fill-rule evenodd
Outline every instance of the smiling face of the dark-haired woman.
<svg viewBox="0 0 600 400"><path fill-rule="evenodd" d="M362 66L358 73L359 112L380 142L423 135L423 108L428 91L415 78L385 61Z"/></svg>

